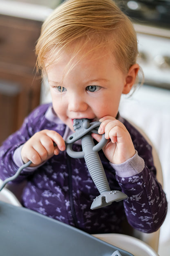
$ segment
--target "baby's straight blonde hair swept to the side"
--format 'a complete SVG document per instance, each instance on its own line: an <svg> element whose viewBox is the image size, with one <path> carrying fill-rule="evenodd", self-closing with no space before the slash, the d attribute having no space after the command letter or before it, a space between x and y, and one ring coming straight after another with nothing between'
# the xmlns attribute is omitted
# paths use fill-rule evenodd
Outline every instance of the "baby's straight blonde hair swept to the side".
<svg viewBox="0 0 170 256"><path fill-rule="evenodd" d="M88 45L89 52L110 50L124 72L136 63L134 27L112 0L67 0L42 25L36 45L37 67L45 75L46 65L58 62L63 50L74 46L73 60Z"/></svg>

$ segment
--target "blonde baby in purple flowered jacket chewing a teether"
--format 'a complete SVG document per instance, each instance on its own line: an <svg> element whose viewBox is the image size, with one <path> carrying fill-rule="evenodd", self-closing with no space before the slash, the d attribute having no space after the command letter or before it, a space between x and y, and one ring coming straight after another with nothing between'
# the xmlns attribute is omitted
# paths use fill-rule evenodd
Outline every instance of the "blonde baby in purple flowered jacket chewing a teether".
<svg viewBox="0 0 170 256"><path fill-rule="evenodd" d="M136 33L112 0L68 0L42 25L37 66L48 79L52 103L40 105L0 148L0 178L31 160L22 204L88 233L121 233L122 222L150 233L163 223L167 201L156 179L152 148L119 114L122 94L135 87L139 65ZM84 159L70 158L65 139L73 119L100 121L99 152L111 190L124 201L90 210L98 190ZM55 144L54 144L55 142ZM55 146L57 145L57 146ZM73 144L81 151L81 144Z"/></svg>

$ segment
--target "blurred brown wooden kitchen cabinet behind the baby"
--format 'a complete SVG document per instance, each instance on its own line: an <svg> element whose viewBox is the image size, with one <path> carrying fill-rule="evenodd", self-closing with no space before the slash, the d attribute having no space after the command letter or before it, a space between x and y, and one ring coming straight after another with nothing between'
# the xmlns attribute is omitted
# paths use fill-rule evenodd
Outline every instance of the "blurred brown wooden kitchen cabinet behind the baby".
<svg viewBox="0 0 170 256"><path fill-rule="evenodd" d="M36 41L42 23L0 15L0 144L40 102Z"/></svg>

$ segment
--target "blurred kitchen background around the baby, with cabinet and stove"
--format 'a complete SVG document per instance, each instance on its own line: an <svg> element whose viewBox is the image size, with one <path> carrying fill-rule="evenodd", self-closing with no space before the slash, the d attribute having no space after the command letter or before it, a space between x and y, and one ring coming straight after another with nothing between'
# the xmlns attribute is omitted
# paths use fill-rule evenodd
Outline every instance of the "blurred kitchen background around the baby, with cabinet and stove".
<svg viewBox="0 0 170 256"><path fill-rule="evenodd" d="M96 0L97 1L97 0ZM35 45L42 22L61 0L0 0L0 144L37 105L50 101L36 73ZM170 1L116 0L133 21L145 82L121 99L120 113L140 126L161 161L170 201ZM169 206L170 207L170 206ZM159 254L170 251L170 208L161 227Z"/></svg>

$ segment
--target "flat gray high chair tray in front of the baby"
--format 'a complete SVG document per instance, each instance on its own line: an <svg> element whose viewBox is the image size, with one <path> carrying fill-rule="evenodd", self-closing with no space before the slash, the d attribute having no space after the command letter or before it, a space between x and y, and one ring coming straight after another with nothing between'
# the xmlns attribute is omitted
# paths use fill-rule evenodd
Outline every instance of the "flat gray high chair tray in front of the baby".
<svg viewBox="0 0 170 256"><path fill-rule="evenodd" d="M111 256L116 250L132 256L72 226L0 201L0 255Z"/></svg>

